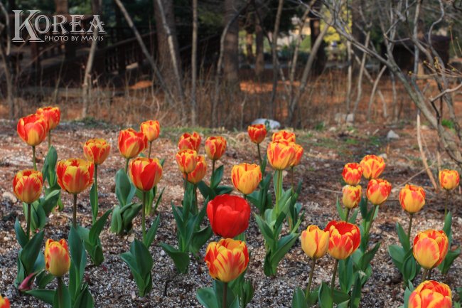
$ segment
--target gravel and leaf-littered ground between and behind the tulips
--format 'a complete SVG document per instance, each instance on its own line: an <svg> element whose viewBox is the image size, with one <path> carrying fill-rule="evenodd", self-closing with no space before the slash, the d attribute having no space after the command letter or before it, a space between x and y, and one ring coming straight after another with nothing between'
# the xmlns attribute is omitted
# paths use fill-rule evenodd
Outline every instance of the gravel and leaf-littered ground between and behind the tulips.
<svg viewBox="0 0 462 308"><path fill-rule="evenodd" d="M16 171L30 167L31 149L18 138L15 123L0 123L0 292L9 297L12 307L47 307L32 297L18 296L14 288L16 277L16 254L18 243L14 235L16 217L24 222L19 202L11 196L11 181ZM176 139L181 129L164 129L161 138L154 144L154 155L165 158L164 175L160 187L166 189L159 215L161 225L150 250L154 256L153 290L144 298L138 297L137 288L131 277L129 267L119 254L129 250L131 241L141 236L140 220L134 223L134 232L120 238L109 233L109 223L102 231L101 241L104 247L105 260L100 267L91 265L88 260L85 279L90 285L90 292L95 299L95 307L201 307L195 299L195 290L209 287L212 280L203 260L192 260L188 274L178 275L172 260L161 250L158 243L165 242L176 245L176 231L171 201L181 201L183 188L180 174L177 171L173 155ZM184 130L184 129L183 129ZM317 224L322 228L332 219L338 219L335 211L335 198L341 189L340 174L348 161L359 161L364 154L386 154L387 168L383 176L395 187L390 201L380 209L379 216L372 227L371 242L381 241L382 245L372 268L373 275L363 289L362 307L398 307L402 304L404 290L399 272L387 254L387 246L398 242L394 225L398 221L406 226L408 218L397 202L399 184L404 183L419 171L419 152L416 150L414 131L410 127L395 129L401 138L387 142L387 129L380 126L345 129L333 127L323 132L297 132L298 142L303 144L306 154L301 166L296 169L296 176L303 180L303 193L300 201L306 210L301 229L307 225ZM117 127L103 124L88 127L80 123L61 124L53 132L53 145L58 151L58 158L71 156L82 157L82 143L91 137L105 137L112 144L112 151L99 169L100 213L112 208L117 202L114 194L114 176L117 169L122 168L124 161L117 150ZM359 133L361 132L361 134ZM375 133L374 133L375 132ZM378 132L378 133L377 133ZM228 140L228 149L222 163L225 164L225 184L230 184L230 169L233 164L243 161L256 161L254 146L247 140L245 133L213 132L223 134ZM429 152L434 151L434 132L425 131ZM205 138L203 138L205 139ZM38 147L38 165L43 164L46 154L45 144ZM201 149L203 152L203 149ZM208 175L210 176L210 174ZM206 178L208 179L208 178ZM427 191L426 206L414 217L413 236L418 230L442 228L444 206L441 195L431 192L430 182L424 173L412 178L413 184L424 186ZM364 186L365 183L363 182ZM87 201L88 191L79 195L77 213L80 224L91 223L90 204ZM453 232L454 245L461 243L461 209L459 206L460 191L454 196L452 211L454 213ZM71 217L72 203L70 196L63 193L65 209L50 216L45 226L45 238L67 238ZM148 218L148 225L155 217ZM216 237L213 240L217 240ZM305 287L308 281L308 258L303 254L300 243L286 255L279 264L276 277L263 274L264 243L254 218L247 230L247 245L251 252L251 260L247 271L255 289L252 302L248 307L290 307L294 287ZM372 243L371 243L372 245ZM201 251L204 255L205 248ZM434 278L448 283L453 290L461 287L462 264L458 258L447 277L441 277L434 271ZM330 281L333 259L323 257L317 262L313 285L322 281ZM416 282L420 282L417 277Z"/></svg>

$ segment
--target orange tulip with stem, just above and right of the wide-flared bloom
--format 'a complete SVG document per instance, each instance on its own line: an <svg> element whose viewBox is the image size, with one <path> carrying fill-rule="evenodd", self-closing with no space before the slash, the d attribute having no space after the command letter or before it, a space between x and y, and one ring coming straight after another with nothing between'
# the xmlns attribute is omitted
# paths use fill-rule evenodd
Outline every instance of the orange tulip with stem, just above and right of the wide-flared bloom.
<svg viewBox="0 0 462 308"><path fill-rule="evenodd" d="M95 194L98 196L98 165L102 164L111 152L111 145L106 142L104 139L95 138L89 139L83 145L83 154L87 161L91 161L95 164L95 171L93 172L94 179L93 183L95 184ZM98 203L95 204L95 208L92 207L92 222L96 222L98 215Z"/></svg>

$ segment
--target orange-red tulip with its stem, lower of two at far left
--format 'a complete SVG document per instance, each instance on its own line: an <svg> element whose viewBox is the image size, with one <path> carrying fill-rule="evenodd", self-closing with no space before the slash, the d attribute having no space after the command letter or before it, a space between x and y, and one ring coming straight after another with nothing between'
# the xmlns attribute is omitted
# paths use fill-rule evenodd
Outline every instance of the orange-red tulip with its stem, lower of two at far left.
<svg viewBox="0 0 462 308"><path fill-rule="evenodd" d="M31 235L31 203L38 200L42 193L43 176L41 171L19 171L13 179L13 191L16 197L27 203L27 238Z"/></svg>

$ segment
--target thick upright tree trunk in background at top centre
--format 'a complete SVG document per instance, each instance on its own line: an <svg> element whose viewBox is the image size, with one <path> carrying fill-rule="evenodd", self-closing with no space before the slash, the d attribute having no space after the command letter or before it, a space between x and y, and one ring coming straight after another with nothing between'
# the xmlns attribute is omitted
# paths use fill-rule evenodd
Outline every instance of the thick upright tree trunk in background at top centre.
<svg viewBox="0 0 462 308"><path fill-rule="evenodd" d="M225 25L230 24L225 35L223 73L228 85L239 87L239 23L234 18L237 8L235 0L225 0ZM232 21L232 23L230 23Z"/></svg>

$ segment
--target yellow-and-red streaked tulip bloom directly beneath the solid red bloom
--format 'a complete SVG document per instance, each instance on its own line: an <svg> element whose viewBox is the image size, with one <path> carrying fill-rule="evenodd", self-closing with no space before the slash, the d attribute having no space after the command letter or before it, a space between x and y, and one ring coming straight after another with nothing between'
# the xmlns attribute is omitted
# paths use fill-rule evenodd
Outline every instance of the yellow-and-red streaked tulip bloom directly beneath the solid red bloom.
<svg viewBox="0 0 462 308"><path fill-rule="evenodd" d="M213 279L230 282L239 277L249 264L247 246L232 238L212 242L205 251L205 262Z"/></svg>

